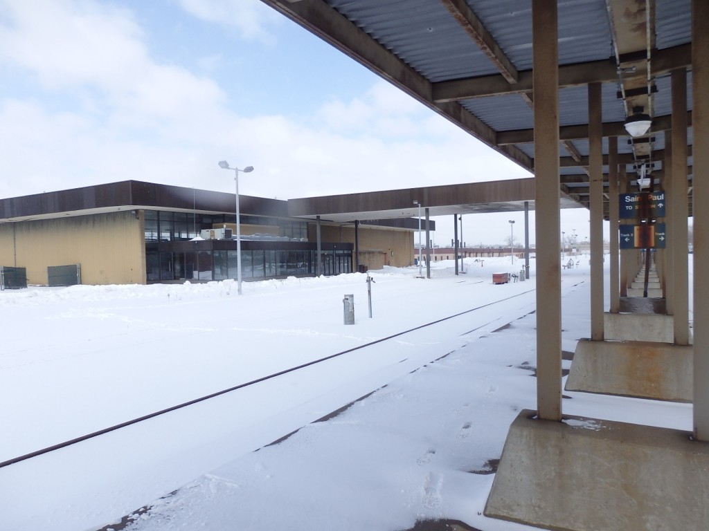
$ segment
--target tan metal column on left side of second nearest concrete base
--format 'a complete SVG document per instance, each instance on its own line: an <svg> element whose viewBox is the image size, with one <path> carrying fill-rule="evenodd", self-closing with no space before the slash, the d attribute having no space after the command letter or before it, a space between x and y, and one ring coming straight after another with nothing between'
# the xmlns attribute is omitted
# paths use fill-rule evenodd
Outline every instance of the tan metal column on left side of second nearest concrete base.
<svg viewBox="0 0 709 531"><path fill-rule="evenodd" d="M591 339L603 341L603 118L601 84L588 85L588 193L591 195Z"/></svg>

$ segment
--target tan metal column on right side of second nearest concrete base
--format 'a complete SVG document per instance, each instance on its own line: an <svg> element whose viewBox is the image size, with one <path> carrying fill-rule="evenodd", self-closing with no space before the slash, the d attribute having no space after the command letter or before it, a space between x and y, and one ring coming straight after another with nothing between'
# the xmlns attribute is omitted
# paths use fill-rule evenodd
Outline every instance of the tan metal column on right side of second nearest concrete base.
<svg viewBox="0 0 709 531"><path fill-rule="evenodd" d="M706 98L706 95L703 96ZM702 144L698 143L698 146ZM697 151L701 151L698 149ZM696 163L694 164L696 166ZM672 71L672 239L674 239L674 342L689 344L687 218L687 71ZM700 209L697 209L700 210ZM701 277L697 277L700 281ZM701 322L701 321L700 321Z"/></svg>

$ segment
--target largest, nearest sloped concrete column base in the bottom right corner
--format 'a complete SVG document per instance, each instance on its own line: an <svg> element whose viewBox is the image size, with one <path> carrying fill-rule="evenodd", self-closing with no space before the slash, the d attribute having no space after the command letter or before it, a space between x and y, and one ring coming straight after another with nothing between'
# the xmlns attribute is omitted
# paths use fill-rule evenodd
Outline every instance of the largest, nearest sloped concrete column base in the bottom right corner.
<svg viewBox="0 0 709 531"><path fill-rule="evenodd" d="M703 530L709 443L581 417L510 426L485 515L554 530Z"/></svg>

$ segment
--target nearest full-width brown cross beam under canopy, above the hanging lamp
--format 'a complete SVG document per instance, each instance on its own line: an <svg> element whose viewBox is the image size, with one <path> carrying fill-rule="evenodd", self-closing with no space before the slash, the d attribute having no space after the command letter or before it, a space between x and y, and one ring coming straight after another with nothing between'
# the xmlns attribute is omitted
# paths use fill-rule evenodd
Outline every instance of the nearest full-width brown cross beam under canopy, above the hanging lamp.
<svg viewBox="0 0 709 531"><path fill-rule="evenodd" d="M644 51L644 50L643 50ZM691 44L679 45L664 50L654 50L652 55L652 76L667 74L677 68L691 67ZM532 70L518 73L518 81L510 83L505 76L478 76L454 81L439 81L432 84L432 98L437 103L461 101L504 94L518 94L532 91ZM590 83L615 83L618 69L615 58L566 64L559 67L559 89Z"/></svg>

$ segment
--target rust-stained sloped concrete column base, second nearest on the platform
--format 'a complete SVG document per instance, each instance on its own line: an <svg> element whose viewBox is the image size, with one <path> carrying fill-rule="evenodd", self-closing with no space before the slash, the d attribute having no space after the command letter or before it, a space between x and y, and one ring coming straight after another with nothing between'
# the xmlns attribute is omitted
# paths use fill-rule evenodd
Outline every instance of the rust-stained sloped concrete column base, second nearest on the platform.
<svg viewBox="0 0 709 531"><path fill-rule="evenodd" d="M564 389L691 402L692 357L691 346L581 339Z"/></svg>

